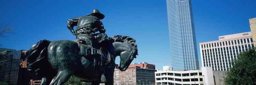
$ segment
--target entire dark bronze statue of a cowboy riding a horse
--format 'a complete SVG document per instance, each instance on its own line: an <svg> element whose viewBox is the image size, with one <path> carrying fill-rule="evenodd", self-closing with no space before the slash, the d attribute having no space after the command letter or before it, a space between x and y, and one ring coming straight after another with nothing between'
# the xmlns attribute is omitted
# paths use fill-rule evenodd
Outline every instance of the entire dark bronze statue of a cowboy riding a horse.
<svg viewBox="0 0 256 85"><path fill-rule="evenodd" d="M41 40L29 49L27 69L42 78L41 85L62 85L71 75L99 85L103 73L105 85L113 85L116 56L120 56L119 70L129 67L138 55L136 40L122 35L107 37L99 21L102 15L94 10L87 16L69 19L68 28L77 36L74 41ZM100 33L92 34L97 31Z"/></svg>

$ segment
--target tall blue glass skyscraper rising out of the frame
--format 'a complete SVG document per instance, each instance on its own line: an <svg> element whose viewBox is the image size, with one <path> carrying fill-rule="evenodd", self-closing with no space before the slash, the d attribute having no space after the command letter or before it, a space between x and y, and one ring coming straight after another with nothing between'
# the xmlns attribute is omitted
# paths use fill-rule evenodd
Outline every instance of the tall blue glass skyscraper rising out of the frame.
<svg viewBox="0 0 256 85"><path fill-rule="evenodd" d="M191 0L166 0L172 70L199 70Z"/></svg>

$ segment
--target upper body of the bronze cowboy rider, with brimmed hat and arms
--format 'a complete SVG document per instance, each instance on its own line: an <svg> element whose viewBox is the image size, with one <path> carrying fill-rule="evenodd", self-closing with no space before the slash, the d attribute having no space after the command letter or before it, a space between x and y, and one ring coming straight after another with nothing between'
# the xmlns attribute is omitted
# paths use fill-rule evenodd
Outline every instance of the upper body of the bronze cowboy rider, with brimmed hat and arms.
<svg viewBox="0 0 256 85"><path fill-rule="evenodd" d="M105 33L104 26L100 21L105 16L99 12L99 10L94 9L93 12L87 16L80 16L76 18L69 19L67 21L68 29L76 35L76 42L80 44L89 45L92 47L95 46L95 36L98 34L93 34L97 31L100 32L101 39L105 39L108 36ZM73 27L76 26L76 30L74 31Z"/></svg>

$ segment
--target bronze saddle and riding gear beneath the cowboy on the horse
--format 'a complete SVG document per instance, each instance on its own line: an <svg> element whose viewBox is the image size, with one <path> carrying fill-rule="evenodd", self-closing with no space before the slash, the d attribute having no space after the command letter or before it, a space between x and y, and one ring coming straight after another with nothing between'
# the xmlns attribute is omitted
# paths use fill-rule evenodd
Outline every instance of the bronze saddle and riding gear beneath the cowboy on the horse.
<svg viewBox="0 0 256 85"><path fill-rule="evenodd" d="M108 38L104 33L96 34L80 34L80 40L74 40L79 44L80 52L79 54L85 58L95 57L99 62L99 65L105 65L110 67L110 60L113 58L110 52L107 49L110 43L114 42L114 39ZM87 37L86 37L87 36ZM87 39L90 38L90 39ZM84 43L86 41L87 43Z"/></svg>

